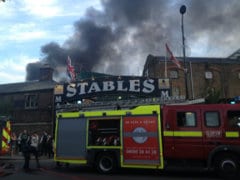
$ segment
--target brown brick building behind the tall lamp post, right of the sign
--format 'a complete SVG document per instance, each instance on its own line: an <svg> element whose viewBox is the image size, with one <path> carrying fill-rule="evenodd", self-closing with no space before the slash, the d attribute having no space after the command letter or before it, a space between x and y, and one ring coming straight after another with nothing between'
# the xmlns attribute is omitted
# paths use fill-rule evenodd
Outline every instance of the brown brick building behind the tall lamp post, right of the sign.
<svg viewBox="0 0 240 180"><path fill-rule="evenodd" d="M219 92L220 98L240 95L240 50L227 58L186 57L187 89L189 99L205 98L209 92ZM163 56L149 55L143 76L169 78L171 96L186 96L183 59L181 69Z"/></svg>

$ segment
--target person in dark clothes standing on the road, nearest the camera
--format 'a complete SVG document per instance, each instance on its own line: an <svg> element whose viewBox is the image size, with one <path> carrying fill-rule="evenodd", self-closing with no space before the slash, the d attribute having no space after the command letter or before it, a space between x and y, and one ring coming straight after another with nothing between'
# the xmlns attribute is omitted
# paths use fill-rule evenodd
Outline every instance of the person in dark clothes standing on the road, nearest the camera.
<svg viewBox="0 0 240 180"><path fill-rule="evenodd" d="M21 135L21 152L24 156L23 169L29 171L29 161L30 161L30 136L27 130L24 130Z"/></svg>

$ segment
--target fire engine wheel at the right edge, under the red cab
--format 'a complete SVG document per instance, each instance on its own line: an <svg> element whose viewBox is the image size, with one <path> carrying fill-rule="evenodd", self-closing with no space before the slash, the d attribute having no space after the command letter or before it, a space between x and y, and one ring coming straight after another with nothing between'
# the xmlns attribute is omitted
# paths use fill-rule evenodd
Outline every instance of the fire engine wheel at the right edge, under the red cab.
<svg viewBox="0 0 240 180"><path fill-rule="evenodd" d="M240 171L239 158L234 154L220 154L216 157L215 172L223 178L236 178Z"/></svg>

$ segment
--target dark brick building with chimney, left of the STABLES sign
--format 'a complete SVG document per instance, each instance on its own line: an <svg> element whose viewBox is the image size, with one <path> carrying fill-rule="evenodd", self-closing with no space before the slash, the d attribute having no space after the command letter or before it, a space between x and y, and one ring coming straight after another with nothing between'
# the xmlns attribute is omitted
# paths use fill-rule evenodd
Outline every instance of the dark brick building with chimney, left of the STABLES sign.
<svg viewBox="0 0 240 180"><path fill-rule="evenodd" d="M39 81L0 85L0 115L12 120L12 130L52 134L54 125L52 69L40 68Z"/></svg>

